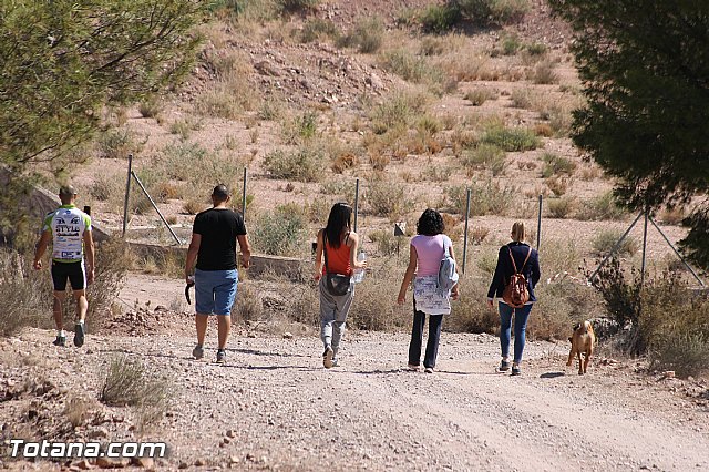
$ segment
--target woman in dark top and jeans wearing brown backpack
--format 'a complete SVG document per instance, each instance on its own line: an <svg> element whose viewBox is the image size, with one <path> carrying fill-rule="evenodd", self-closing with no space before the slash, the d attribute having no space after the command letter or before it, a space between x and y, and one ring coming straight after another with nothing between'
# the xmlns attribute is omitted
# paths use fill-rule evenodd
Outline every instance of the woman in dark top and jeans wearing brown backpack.
<svg viewBox="0 0 709 472"><path fill-rule="evenodd" d="M532 306L536 301L534 287L542 276L540 271L540 255L536 249L523 243L524 223L512 225L512 243L500 248L497 266L487 290L487 305L492 308L495 297L500 308L500 347L502 362L499 371L510 370L510 335L512 317L514 315L514 358L512 374L522 373L520 363L524 351L527 319Z"/></svg>

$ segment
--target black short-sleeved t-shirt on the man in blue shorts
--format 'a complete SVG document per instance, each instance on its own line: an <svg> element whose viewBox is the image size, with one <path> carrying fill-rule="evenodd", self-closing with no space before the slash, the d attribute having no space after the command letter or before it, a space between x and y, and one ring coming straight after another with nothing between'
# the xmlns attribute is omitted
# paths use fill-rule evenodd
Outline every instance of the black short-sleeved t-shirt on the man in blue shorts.
<svg viewBox="0 0 709 472"><path fill-rule="evenodd" d="M230 209L206 209L195 217L192 230L202 235L197 268L233 270L236 268L236 236L246 234L244 218Z"/></svg>

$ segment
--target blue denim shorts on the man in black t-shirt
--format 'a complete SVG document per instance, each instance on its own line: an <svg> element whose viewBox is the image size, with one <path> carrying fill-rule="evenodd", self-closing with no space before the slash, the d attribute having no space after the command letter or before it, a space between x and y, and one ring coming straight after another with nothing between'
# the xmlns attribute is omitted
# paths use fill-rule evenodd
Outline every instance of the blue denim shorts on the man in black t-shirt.
<svg viewBox="0 0 709 472"><path fill-rule="evenodd" d="M232 314L238 270L195 270L195 309L199 315Z"/></svg>

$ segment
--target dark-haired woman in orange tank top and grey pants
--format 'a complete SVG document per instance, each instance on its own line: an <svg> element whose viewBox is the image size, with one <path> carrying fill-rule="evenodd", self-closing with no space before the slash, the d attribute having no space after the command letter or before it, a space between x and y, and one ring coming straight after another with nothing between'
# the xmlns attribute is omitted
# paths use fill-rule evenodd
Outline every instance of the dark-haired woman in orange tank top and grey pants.
<svg viewBox="0 0 709 472"><path fill-rule="evenodd" d="M367 263L358 263L359 236L351 228L352 207L336 203L330 209L328 225L318 232L315 254L315 279L320 288L320 339L325 346L322 365L337 366L337 352L345 334L345 322L352 306L354 284L350 281L345 295L336 295L328 288L326 274L351 276L353 269L363 269ZM327 253L327 254L323 254ZM322 259L326 257L327 267Z"/></svg>

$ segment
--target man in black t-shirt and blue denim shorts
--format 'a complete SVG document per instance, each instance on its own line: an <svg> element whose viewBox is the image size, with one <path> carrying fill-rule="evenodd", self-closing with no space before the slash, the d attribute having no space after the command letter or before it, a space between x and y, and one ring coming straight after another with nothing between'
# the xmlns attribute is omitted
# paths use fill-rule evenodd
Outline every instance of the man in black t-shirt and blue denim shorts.
<svg viewBox="0 0 709 472"><path fill-rule="evenodd" d="M195 217L192 240L187 249L185 279L192 283L192 269L196 269L195 322L197 346L192 351L195 359L204 357L204 338L209 315L217 315L219 346L217 362L226 362L226 342L232 328L232 306L236 299L238 270L236 265L236 243L242 250L242 266L248 267L251 248L246 236L244 218L227 208L232 197L225 185L217 185L212 192L213 208Z"/></svg>

